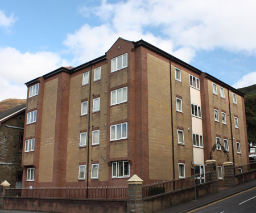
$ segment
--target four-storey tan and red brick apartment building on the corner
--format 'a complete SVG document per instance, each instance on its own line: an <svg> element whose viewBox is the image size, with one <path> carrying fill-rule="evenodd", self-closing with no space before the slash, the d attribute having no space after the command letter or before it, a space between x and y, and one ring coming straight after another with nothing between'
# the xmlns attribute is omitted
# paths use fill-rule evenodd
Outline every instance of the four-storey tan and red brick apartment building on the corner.
<svg viewBox="0 0 256 213"><path fill-rule="evenodd" d="M228 156L249 162L243 93L146 41L26 85L23 187L172 180L210 157L221 178Z"/></svg>

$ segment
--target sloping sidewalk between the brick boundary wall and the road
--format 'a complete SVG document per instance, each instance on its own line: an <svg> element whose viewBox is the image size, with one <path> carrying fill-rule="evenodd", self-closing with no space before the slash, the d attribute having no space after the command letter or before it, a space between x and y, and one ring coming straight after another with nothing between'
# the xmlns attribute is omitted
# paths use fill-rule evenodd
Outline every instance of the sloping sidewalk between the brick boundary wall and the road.
<svg viewBox="0 0 256 213"><path fill-rule="evenodd" d="M194 200L189 201L187 203L181 203L180 205L167 208L166 210L159 211L158 213L184 213L195 208L208 205L209 203L218 201L222 198L229 197L230 195L237 194L241 191L253 188L254 186L256 186L256 180L246 182L245 184L236 185L231 188L226 188L224 190L219 191L218 193L200 197L196 201Z"/></svg>

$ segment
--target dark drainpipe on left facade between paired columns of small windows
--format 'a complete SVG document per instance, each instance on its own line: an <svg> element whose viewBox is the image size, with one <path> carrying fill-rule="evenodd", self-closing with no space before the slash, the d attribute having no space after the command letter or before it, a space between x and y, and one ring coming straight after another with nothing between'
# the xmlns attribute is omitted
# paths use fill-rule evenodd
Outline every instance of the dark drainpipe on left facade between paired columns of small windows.
<svg viewBox="0 0 256 213"><path fill-rule="evenodd" d="M90 93L92 90L92 64L90 63L90 83L89 83L89 99L88 99L88 129L87 129L87 163L86 163L86 198L88 198L89 183L89 147L90 147Z"/></svg>

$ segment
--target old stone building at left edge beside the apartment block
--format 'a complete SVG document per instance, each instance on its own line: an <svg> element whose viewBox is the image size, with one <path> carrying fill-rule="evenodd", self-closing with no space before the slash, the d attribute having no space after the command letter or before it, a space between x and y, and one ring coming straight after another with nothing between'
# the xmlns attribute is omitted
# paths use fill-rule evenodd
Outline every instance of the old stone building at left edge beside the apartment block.
<svg viewBox="0 0 256 213"><path fill-rule="evenodd" d="M26 104L0 113L0 182L22 186L22 147Z"/></svg>

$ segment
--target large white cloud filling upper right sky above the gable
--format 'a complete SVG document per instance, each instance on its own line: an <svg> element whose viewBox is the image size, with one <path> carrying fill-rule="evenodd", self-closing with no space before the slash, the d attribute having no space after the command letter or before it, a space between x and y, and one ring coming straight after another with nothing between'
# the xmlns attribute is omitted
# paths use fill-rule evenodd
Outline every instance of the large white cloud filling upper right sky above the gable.
<svg viewBox="0 0 256 213"><path fill-rule="evenodd" d="M90 11L91 15L96 15L102 20L102 25L96 28L86 25L89 29L85 32L86 35L89 32L95 33L97 29L101 39L110 44L119 36L128 40L142 38L148 41L147 29L156 28L154 32L149 33L151 39L155 40L154 44L163 40L169 42L172 46L172 49L168 48L170 53L179 49L187 50L187 56L184 57L187 62L195 56L196 50L222 48L231 52L256 54L256 28L253 27L256 20L256 3L253 0L128 0L118 3L103 0L101 6L86 7L85 11L87 16ZM79 31L73 33L73 40L76 40ZM114 39L108 40L112 36ZM99 41L96 40L99 35L90 37L94 37L93 41ZM80 44L87 44L87 39L87 36L80 35ZM91 50L92 45L82 46L85 52ZM189 53L191 54L188 56ZM184 59L182 55L180 57Z"/></svg>

